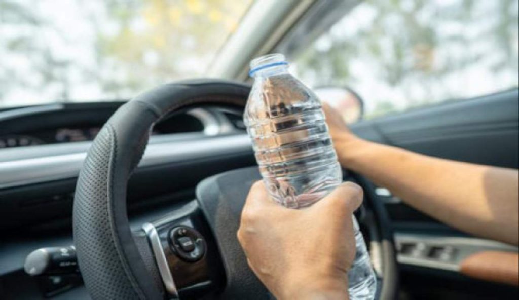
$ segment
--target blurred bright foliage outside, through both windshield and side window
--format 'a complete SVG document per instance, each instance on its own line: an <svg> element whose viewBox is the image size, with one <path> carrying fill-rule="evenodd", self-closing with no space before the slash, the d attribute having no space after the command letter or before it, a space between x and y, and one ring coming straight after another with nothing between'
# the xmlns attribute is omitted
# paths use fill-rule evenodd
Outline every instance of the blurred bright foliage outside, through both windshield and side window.
<svg viewBox="0 0 519 300"><path fill-rule="evenodd" d="M203 77L252 0L0 0L0 105ZM365 0L295 59L367 117L517 86L518 0Z"/></svg>

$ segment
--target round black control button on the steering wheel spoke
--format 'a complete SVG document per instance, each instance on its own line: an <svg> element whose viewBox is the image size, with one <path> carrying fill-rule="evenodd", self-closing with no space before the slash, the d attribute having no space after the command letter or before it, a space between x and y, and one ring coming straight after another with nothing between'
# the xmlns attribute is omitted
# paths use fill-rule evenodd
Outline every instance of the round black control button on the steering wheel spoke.
<svg viewBox="0 0 519 300"><path fill-rule="evenodd" d="M169 233L170 245L181 260L194 263L206 254L206 242L195 229L187 226L177 226Z"/></svg>

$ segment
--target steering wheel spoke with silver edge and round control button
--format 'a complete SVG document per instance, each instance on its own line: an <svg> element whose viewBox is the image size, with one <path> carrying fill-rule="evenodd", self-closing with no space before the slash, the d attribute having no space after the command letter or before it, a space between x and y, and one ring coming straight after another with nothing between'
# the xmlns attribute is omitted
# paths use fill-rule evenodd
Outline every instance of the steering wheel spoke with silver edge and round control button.
<svg viewBox="0 0 519 300"><path fill-rule="evenodd" d="M142 231L170 298L201 297L222 286L220 257L195 200L143 224Z"/></svg>

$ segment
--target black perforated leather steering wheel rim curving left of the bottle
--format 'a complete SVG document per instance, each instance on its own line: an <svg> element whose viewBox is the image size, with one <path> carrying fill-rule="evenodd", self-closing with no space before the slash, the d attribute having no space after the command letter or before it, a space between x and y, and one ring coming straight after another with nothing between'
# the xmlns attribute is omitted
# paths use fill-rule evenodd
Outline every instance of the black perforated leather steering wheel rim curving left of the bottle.
<svg viewBox="0 0 519 300"><path fill-rule="evenodd" d="M135 244L126 210L128 178L144 153L153 124L186 106L243 107L249 91L247 85L219 80L168 84L129 101L106 122L88 152L74 198L74 244L93 299L165 296L154 265Z"/></svg>

